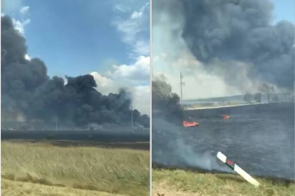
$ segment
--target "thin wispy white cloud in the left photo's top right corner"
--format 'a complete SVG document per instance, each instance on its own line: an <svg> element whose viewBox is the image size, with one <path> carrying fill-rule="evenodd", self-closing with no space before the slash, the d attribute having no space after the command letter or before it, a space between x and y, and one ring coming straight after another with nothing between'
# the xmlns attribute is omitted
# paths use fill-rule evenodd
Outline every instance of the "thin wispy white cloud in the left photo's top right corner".
<svg viewBox="0 0 295 196"><path fill-rule="evenodd" d="M121 10L123 15L118 15L113 25L122 33L123 42L131 46L131 56L149 54L149 3L130 12L124 6L116 5L116 10ZM128 13L128 15L126 14ZM127 15L127 16L126 16Z"/></svg>

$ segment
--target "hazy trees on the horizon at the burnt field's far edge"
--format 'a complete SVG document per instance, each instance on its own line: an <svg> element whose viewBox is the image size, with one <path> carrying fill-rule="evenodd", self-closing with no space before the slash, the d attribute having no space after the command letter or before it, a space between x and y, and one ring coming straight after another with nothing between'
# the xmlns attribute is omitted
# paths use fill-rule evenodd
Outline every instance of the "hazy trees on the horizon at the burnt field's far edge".
<svg viewBox="0 0 295 196"><path fill-rule="evenodd" d="M255 101L257 103L261 103L261 97L262 97L262 93L264 93L267 96L267 100L268 103L270 103L272 100L274 102L278 102L279 98L277 95L273 95L274 92L274 86L273 85L268 85L268 84L263 84L259 90L261 92L250 94L250 93L246 93L244 95L244 101L247 103L251 103L252 101Z"/></svg>

